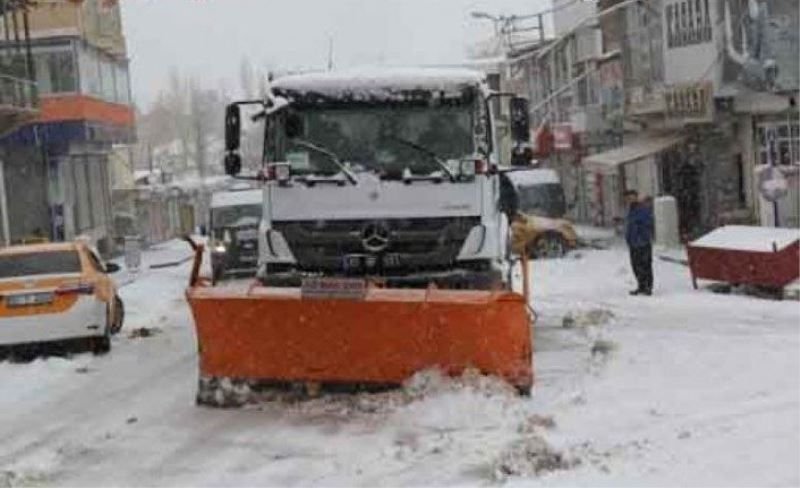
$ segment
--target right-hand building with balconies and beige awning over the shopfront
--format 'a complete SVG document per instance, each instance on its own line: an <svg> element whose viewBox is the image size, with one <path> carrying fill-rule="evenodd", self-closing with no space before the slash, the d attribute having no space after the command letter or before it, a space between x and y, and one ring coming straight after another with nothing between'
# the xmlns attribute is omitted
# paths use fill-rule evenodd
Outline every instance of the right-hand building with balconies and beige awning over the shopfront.
<svg viewBox="0 0 800 488"><path fill-rule="evenodd" d="M622 33L623 144L587 168L675 196L687 239L726 223L797 226L798 3L634 2L615 21L603 37ZM788 181L778 222L761 196L766 164Z"/></svg>

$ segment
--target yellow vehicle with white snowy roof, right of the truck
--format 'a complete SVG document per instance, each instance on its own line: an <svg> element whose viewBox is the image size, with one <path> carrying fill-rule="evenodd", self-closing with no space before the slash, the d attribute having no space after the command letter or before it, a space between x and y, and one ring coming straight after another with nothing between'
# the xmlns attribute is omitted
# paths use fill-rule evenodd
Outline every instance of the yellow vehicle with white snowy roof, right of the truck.
<svg viewBox="0 0 800 488"><path fill-rule="evenodd" d="M504 173L504 207L512 215L512 249L533 258L561 257L577 246L578 237L567 213L564 188L552 169L521 169Z"/></svg>

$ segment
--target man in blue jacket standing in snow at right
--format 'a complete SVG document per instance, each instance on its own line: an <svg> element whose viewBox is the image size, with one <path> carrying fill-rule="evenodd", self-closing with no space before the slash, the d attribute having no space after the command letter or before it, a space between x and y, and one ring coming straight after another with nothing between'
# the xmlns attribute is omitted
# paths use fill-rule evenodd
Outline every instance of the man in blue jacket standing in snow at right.
<svg viewBox="0 0 800 488"><path fill-rule="evenodd" d="M625 192L628 213L625 217L625 241L631 255L631 267L638 287L631 295L653 294L653 214L639 200L636 190Z"/></svg>

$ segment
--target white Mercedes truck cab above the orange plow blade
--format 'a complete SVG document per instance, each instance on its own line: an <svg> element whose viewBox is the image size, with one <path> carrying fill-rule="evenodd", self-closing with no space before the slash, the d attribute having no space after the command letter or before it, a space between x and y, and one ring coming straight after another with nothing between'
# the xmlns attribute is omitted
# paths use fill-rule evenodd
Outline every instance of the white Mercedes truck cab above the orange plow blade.
<svg viewBox="0 0 800 488"><path fill-rule="evenodd" d="M334 276L401 288L507 287L509 219L491 97L481 73L458 69L274 80L260 114L262 283ZM231 172L241 163L227 139Z"/></svg>

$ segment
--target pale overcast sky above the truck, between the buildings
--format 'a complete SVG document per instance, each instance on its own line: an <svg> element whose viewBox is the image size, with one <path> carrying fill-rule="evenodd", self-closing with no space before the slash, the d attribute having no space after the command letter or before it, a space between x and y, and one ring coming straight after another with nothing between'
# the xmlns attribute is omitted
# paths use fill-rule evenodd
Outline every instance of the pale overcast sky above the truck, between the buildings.
<svg viewBox="0 0 800 488"><path fill-rule="evenodd" d="M244 57L265 69L459 62L491 23L471 11L523 14L550 0L124 0L134 98L144 108L171 68L237 86ZM225 80L225 81L223 81Z"/></svg>

